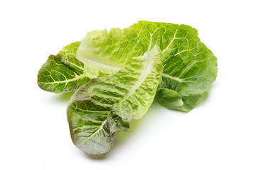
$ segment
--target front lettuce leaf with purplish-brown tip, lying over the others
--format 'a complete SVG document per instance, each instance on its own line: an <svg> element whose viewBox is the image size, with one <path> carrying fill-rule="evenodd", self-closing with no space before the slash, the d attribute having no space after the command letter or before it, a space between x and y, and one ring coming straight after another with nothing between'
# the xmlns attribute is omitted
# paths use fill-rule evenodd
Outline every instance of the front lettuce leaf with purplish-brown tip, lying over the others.
<svg viewBox="0 0 256 170"><path fill-rule="evenodd" d="M131 119L141 118L151 106L161 81L162 53L157 45L133 57L124 69L91 79L75 92L68 106L70 134L87 154L110 150L115 131L126 131Z"/></svg>

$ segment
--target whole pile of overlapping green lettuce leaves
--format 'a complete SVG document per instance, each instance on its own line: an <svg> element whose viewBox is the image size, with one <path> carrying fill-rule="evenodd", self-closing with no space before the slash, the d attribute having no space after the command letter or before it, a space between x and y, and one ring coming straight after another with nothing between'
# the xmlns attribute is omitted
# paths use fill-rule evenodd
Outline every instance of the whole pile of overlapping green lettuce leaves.
<svg viewBox="0 0 256 170"><path fill-rule="evenodd" d="M217 72L217 59L195 28L139 21L93 30L50 55L38 72L38 86L76 91L68 106L73 142L83 152L102 154L114 132L126 131L154 96L166 108L191 111Z"/></svg>

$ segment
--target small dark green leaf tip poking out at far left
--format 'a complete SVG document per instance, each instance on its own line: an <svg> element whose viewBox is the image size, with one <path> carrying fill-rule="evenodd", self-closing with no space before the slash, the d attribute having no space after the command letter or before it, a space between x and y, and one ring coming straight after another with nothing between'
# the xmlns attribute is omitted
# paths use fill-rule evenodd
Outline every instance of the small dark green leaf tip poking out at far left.
<svg viewBox="0 0 256 170"><path fill-rule="evenodd" d="M84 74L84 64L75 53L80 42L73 42L64 47L58 55L50 55L38 72L38 86L41 89L59 93L74 91L90 79Z"/></svg>

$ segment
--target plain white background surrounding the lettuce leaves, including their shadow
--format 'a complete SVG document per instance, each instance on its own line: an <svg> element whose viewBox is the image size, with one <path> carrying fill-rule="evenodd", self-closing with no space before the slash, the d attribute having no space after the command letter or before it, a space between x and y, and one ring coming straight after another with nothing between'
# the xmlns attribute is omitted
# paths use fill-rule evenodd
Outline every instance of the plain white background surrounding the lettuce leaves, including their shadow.
<svg viewBox="0 0 256 170"><path fill-rule="evenodd" d="M1 1L0 169L256 169L254 1ZM154 102L90 157L70 140L70 94L50 94L37 73L87 31L139 20L184 23L218 57L212 90L189 113Z"/></svg>

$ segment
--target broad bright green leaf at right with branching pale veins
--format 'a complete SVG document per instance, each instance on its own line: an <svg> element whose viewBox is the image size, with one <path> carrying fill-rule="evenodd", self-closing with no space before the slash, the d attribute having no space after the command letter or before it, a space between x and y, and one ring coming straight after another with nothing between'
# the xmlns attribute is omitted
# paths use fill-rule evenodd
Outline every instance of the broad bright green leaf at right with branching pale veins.
<svg viewBox="0 0 256 170"><path fill-rule="evenodd" d="M139 21L134 28L149 49L158 44L164 54L163 80L157 97L167 108L191 111L217 76L217 59L198 38L195 28Z"/></svg>

